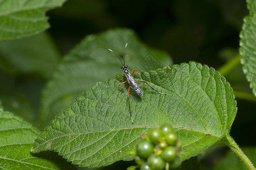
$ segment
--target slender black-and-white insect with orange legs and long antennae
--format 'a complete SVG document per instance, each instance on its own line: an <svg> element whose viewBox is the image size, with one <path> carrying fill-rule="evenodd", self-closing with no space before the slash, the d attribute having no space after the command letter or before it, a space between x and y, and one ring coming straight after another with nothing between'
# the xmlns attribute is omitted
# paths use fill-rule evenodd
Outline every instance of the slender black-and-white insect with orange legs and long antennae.
<svg viewBox="0 0 256 170"><path fill-rule="evenodd" d="M132 34L133 34L133 33L132 33ZM131 35L131 36L132 36L132 35ZM131 36L129 37L129 39L131 38ZM126 48L127 48L127 44L128 44L129 39L127 40L127 42L126 42L126 44L125 44L125 48L124 48L124 58L125 58L125 50L126 50ZM120 60L120 62L121 62L121 64L122 64L121 69L124 71L124 75L121 75L121 76L125 76L125 78L126 78L127 80L126 80L125 82L123 82L123 83L119 83L118 85L121 87L120 84L124 84L124 83L126 83L126 82L129 83L127 98L128 98L128 102L129 102L130 116L131 116L131 120L132 120L132 124L133 124L133 118L132 118L132 112L131 112L131 104L130 104L130 99L129 99L130 88L132 88L133 90L135 90L135 92L136 92L138 95L142 96L142 92L141 92L141 90L140 90L140 86L139 86L137 83L146 83L148 86L149 86L149 84L148 84L147 82L145 82L145 81L136 82L135 79L133 78L133 76L134 76L134 74L135 74L135 71L137 71L137 70L136 70L136 69L132 69L131 71L129 71L127 65L125 65L125 62L123 63L123 62L121 61L120 57L117 56L117 54L116 54L113 50L111 50L111 49L109 49L109 48L106 48L106 47L101 47L101 46L100 46L100 47L97 47L97 48L104 48L104 49L110 50L112 53L114 53L114 54L116 55L117 58L119 58L119 60ZM125 60L124 60L124 61L125 61ZM133 71L133 74L131 74L132 71ZM139 73L139 71L137 71L137 72ZM158 94L166 95L166 94L163 94L163 93L161 93L161 92L155 90L155 89L154 89L153 87L151 87L151 86L149 86L149 87L152 88L152 90L158 92ZM121 87L121 88L122 88L122 90L123 90L123 87Z"/></svg>

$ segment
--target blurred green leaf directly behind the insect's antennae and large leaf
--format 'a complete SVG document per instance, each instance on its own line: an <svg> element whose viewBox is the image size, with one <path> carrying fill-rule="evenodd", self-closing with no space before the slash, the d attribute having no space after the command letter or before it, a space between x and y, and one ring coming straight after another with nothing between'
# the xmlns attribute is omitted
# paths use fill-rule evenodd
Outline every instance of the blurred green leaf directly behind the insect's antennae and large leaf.
<svg viewBox="0 0 256 170"><path fill-rule="evenodd" d="M66 54L43 90L42 107L35 125L43 129L62 109L68 108L75 97L96 82L123 73L115 54L96 47L111 48L123 58L124 46L131 34L129 29L112 29L99 35L89 35ZM150 71L170 65L171 59L169 54L150 49L132 35L125 52L125 64L131 70Z"/></svg>

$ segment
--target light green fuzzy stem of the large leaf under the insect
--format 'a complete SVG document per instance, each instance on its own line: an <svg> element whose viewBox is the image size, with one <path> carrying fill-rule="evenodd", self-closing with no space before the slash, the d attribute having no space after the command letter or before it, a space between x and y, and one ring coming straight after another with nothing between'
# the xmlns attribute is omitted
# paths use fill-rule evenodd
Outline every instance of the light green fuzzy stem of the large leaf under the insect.
<svg viewBox="0 0 256 170"><path fill-rule="evenodd" d="M247 156L244 154L244 152L241 150L241 148L237 145L236 142L234 142L234 139L230 137L230 135L227 135L225 140L223 141L226 146L228 146L232 151L234 151L237 156L245 163L246 167L250 170L254 170L254 166L251 163L250 159L247 158Z"/></svg>

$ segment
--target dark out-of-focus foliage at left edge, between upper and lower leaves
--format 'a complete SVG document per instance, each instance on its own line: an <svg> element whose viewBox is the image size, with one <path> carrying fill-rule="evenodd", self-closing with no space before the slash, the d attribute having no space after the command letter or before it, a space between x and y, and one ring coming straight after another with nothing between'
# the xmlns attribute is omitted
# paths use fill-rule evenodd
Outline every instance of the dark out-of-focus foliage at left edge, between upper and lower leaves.
<svg viewBox="0 0 256 170"><path fill-rule="evenodd" d="M47 33L0 42L0 99L6 111L33 122L41 88L54 71L60 54Z"/></svg>

